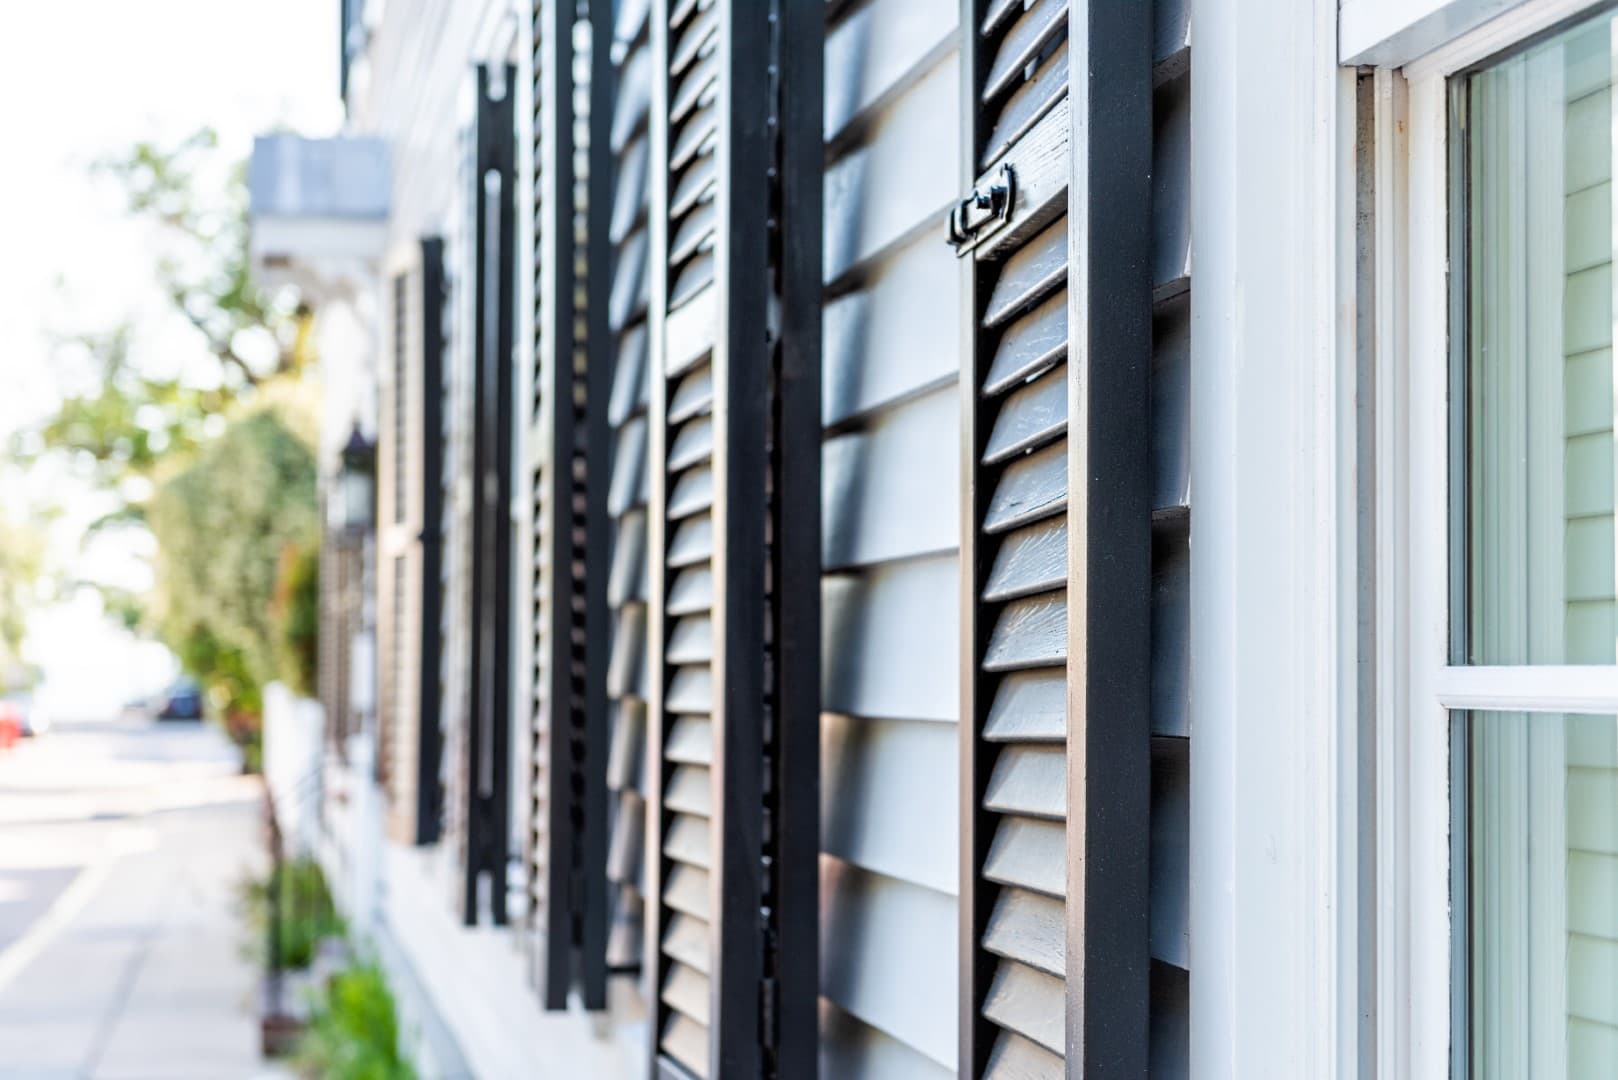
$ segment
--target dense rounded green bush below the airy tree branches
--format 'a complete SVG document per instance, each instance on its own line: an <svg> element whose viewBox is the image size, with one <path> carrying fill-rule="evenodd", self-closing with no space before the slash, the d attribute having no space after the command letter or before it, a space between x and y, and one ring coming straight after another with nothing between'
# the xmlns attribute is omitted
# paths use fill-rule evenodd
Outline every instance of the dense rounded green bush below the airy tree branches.
<svg viewBox="0 0 1618 1080"><path fill-rule="evenodd" d="M316 461L280 411L231 419L147 507L157 538L157 628L256 743L262 688L282 675L272 606L286 547L317 536Z"/></svg>

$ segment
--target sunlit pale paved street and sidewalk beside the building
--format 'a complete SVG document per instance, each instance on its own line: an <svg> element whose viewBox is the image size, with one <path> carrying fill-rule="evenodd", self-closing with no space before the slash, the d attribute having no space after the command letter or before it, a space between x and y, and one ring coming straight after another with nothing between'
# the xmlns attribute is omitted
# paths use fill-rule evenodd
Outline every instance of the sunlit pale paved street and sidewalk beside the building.
<svg viewBox="0 0 1618 1080"><path fill-rule="evenodd" d="M236 899L257 800L197 724L0 751L0 1078L269 1075Z"/></svg>

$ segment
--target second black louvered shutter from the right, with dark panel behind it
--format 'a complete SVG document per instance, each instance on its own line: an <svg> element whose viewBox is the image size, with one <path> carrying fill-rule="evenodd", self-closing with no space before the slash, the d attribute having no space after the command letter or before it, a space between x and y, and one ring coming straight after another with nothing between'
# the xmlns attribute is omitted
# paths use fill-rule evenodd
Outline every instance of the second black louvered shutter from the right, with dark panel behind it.
<svg viewBox="0 0 1618 1080"><path fill-rule="evenodd" d="M650 11L654 1075L815 1062L822 19Z"/></svg>

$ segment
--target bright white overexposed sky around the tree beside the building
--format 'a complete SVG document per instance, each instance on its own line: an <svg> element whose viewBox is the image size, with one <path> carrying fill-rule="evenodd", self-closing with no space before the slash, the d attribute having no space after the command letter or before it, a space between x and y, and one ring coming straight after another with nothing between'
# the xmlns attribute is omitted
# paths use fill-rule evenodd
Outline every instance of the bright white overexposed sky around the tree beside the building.
<svg viewBox="0 0 1618 1080"><path fill-rule="evenodd" d="M196 340L163 309L152 283L152 235L123 215L120 193L92 162L141 139L178 141L202 126L246 157L272 128L332 134L340 0L47 0L5 3L0 34L0 439L50 408L73 372L52 364L55 334L136 327L136 351L184 363ZM175 359L168 359L173 356ZM71 491L60 474L0 474L0 510L26 513ZM102 576L128 552L78 551L68 499L52 534L60 565ZM133 644L81 599L47 612L31 646L60 711L116 696L105 672ZM116 653L116 659L113 657ZM95 678L95 672L102 677ZM83 678L81 675L89 675ZM81 690L63 690L81 687ZM83 698L83 699L81 699Z"/></svg>

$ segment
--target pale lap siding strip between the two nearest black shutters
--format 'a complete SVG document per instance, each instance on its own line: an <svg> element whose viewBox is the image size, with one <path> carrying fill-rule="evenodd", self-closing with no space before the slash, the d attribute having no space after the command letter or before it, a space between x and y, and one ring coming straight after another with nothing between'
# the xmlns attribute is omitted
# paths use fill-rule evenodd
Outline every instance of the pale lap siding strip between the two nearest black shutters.
<svg viewBox="0 0 1618 1080"><path fill-rule="evenodd" d="M953 0L827 26L820 1074L955 1067Z"/></svg>

